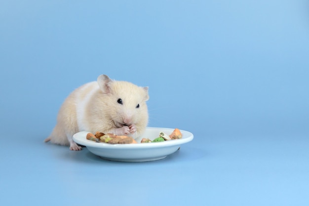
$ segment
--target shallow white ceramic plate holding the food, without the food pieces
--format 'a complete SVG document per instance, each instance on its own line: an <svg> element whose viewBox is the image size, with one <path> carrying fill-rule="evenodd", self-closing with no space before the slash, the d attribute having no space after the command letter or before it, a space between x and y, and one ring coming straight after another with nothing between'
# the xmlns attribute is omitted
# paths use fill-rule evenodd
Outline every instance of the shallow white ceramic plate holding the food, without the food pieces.
<svg viewBox="0 0 309 206"><path fill-rule="evenodd" d="M103 159L119 162L146 162L165 158L176 152L180 145L193 140L193 134L189 131L180 130L183 137L181 139L167 140L164 142L140 143L142 138L154 140L162 131L171 134L174 129L147 127L143 135L136 138L137 144L107 144L94 142L86 139L88 131L81 131L73 136L73 140L80 145L84 145L95 155Z"/></svg>

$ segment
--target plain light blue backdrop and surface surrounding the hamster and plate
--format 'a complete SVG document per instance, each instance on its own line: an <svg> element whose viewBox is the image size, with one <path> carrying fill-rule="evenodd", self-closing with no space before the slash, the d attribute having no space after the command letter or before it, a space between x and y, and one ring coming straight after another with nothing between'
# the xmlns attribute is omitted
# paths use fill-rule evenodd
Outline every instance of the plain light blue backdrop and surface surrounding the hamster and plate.
<svg viewBox="0 0 309 206"><path fill-rule="evenodd" d="M100 74L193 141L135 164L44 144ZM308 88L307 0L1 1L1 205L308 205Z"/></svg>

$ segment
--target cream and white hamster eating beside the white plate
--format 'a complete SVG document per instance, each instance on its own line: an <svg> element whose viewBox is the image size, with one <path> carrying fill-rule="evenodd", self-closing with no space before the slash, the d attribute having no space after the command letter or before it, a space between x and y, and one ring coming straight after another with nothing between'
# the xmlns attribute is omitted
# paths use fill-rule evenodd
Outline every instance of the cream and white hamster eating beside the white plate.
<svg viewBox="0 0 309 206"><path fill-rule="evenodd" d="M148 124L148 99L148 87L100 75L96 82L78 87L66 98L59 110L57 124L44 142L81 150L73 141L73 135L79 131L136 138Z"/></svg>

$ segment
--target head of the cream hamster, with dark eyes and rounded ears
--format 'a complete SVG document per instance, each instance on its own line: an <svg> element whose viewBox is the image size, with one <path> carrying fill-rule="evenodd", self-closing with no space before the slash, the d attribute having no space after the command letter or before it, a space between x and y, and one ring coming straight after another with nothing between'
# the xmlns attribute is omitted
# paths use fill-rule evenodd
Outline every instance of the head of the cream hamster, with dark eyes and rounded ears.
<svg viewBox="0 0 309 206"><path fill-rule="evenodd" d="M112 81L106 75L99 76L97 82L105 96L109 118L117 127L138 125L140 122L147 124L148 87L140 87L130 82Z"/></svg>

